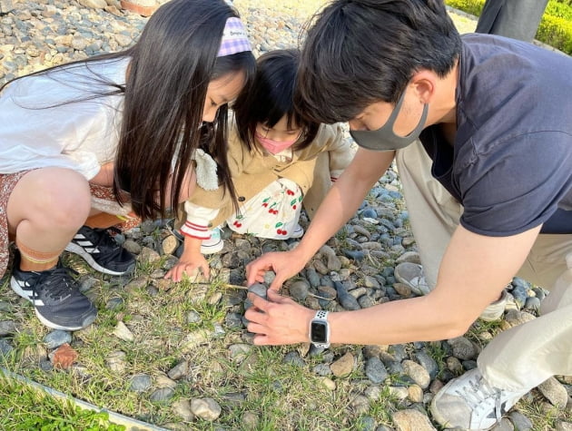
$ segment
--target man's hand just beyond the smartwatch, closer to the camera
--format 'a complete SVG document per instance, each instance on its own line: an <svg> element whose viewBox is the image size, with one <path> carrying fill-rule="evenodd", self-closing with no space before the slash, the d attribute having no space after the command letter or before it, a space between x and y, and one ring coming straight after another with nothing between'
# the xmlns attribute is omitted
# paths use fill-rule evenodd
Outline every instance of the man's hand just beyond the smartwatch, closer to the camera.
<svg viewBox="0 0 572 431"><path fill-rule="evenodd" d="M249 293L248 299L252 307L246 310L244 317L250 321L248 330L256 334L253 340L255 345L278 346L308 341L314 310L306 309L270 289L269 300L261 299L254 293Z"/></svg>

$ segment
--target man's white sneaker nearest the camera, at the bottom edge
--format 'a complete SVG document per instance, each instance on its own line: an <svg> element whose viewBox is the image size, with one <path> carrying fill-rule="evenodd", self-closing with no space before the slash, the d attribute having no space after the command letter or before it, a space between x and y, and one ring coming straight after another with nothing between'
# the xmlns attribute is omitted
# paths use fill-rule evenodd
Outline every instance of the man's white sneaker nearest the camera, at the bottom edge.
<svg viewBox="0 0 572 431"><path fill-rule="evenodd" d="M447 428L488 429L527 392L492 387L474 368L442 387L431 401L430 410L433 418Z"/></svg>

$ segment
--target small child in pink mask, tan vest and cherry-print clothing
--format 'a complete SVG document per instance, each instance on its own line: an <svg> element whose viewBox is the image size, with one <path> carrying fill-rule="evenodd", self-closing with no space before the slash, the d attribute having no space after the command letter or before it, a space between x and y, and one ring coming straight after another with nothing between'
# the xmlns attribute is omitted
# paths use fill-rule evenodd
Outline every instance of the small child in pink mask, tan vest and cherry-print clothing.
<svg viewBox="0 0 572 431"><path fill-rule="evenodd" d="M300 237L302 198L313 215L331 180L350 163L353 152L340 126L307 122L294 110L298 58L295 50L259 58L254 83L232 107L228 158L240 209L234 211L223 190L197 187L184 203L183 252L167 279L178 281L196 269L209 276L202 255L222 249L220 233L209 228L225 220L238 233L277 240Z"/></svg>

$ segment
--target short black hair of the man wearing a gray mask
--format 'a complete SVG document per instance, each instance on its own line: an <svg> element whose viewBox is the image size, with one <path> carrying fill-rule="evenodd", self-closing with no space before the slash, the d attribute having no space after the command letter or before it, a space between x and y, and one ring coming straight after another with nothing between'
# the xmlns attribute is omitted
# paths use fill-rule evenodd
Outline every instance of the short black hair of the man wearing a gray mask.
<svg viewBox="0 0 572 431"><path fill-rule="evenodd" d="M316 122L347 122L397 103L412 75L452 70L461 40L443 0L335 0L314 15L296 104Z"/></svg>

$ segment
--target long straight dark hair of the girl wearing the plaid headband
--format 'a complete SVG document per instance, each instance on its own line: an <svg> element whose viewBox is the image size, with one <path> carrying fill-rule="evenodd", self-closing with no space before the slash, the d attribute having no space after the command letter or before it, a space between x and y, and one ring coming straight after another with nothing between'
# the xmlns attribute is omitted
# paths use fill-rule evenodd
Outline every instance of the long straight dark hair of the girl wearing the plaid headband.
<svg viewBox="0 0 572 431"><path fill-rule="evenodd" d="M234 16L238 13L223 0L172 0L154 12L132 47L31 73L57 79L52 72L73 73L74 68L87 66L94 87L81 100L123 94L113 191L119 203L122 191L128 191L133 211L143 219L163 216L176 206L197 148L218 163L220 181L236 201L226 158L227 106L219 108L212 124L202 123L210 81L241 72L248 87L256 68L250 51L217 57L226 20ZM109 82L90 68L95 62L125 58L130 63L124 85Z"/></svg>

